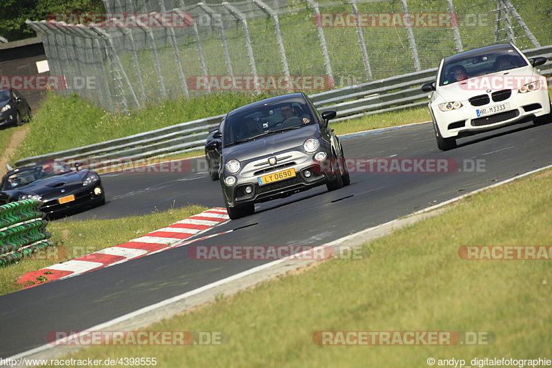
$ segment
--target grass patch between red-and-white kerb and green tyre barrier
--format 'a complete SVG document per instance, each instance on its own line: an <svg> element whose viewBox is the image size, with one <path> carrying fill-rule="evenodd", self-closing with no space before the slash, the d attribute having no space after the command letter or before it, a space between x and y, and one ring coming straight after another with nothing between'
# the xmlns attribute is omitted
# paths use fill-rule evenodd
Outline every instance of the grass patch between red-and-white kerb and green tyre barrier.
<svg viewBox="0 0 552 368"><path fill-rule="evenodd" d="M21 289L21 284L16 281L25 273L128 242L206 209L202 206L186 206L116 220L50 222L46 229L52 233L50 240L55 246L50 246L36 258L26 258L17 264L0 268L0 295Z"/></svg>

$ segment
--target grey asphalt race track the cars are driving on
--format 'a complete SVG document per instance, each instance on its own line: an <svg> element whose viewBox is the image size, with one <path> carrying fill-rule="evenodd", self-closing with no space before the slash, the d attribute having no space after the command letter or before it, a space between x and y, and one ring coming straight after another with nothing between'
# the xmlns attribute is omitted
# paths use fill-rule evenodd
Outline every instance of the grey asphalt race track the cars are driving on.
<svg viewBox="0 0 552 368"><path fill-rule="evenodd" d="M241 229L195 244L325 244L551 165L551 135L552 124L520 124L459 139L459 147L448 152L437 150L431 124L342 137L346 157L358 159L359 167L367 159L393 158L452 159L457 168L452 173L351 173L350 186L331 193L320 186L257 204L255 215L215 226L207 234ZM474 171L477 164L479 170ZM198 165L197 159L190 160L190 168ZM127 173L101 178L108 203L71 218L116 218L172 205L224 207L219 183L211 182L206 173ZM181 247L0 296L0 356L44 345L50 331L81 331L261 263L190 260L186 247Z"/></svg>

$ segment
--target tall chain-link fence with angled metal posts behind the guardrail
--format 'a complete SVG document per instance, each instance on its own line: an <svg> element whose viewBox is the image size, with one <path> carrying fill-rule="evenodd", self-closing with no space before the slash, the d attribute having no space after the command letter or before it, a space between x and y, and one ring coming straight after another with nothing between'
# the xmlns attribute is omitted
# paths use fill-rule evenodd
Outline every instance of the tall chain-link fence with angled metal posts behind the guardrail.
<svg viewBox="0 0 552 368"><path fill-rule="evenodd" d="M50 75L65 77L60 93L113 112L221 90L314 93L493 43L552 43L549 0L103 1L109 17L90 26L28 23Z"/></svg>

